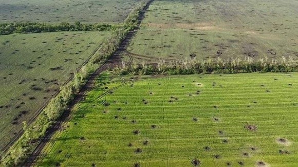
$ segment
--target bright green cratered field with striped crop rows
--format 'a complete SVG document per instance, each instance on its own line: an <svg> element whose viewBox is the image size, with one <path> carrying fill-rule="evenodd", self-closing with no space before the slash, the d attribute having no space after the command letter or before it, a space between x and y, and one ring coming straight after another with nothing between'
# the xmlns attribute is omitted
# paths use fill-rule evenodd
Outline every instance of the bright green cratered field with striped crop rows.
<svg viewBox="0 0 298 167"><path fill-rule="evenodd" d="M298 73L102 74L38 166L297 166Z"/></svg>

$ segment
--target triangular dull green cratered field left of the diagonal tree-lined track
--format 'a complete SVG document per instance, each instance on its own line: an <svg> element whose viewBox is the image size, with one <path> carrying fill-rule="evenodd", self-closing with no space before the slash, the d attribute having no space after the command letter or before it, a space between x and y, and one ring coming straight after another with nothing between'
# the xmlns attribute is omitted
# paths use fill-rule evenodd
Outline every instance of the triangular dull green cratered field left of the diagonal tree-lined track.
<svg viewBox="0 0 298 167"><path fill-rule="evenodd" d="M0 38L0 150L94 52L109 32Z"/></svg>

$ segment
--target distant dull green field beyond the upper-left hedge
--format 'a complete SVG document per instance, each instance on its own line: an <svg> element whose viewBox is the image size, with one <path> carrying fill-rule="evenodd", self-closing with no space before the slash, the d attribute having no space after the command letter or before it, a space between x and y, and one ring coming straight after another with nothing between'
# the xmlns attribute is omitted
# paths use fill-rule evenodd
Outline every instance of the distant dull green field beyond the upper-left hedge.
<svg viewBox="0 0 298 167"><path fill-rule="evenodd" d="M139 0L2 0L0 22L122 23L138 2Z"/></svg>

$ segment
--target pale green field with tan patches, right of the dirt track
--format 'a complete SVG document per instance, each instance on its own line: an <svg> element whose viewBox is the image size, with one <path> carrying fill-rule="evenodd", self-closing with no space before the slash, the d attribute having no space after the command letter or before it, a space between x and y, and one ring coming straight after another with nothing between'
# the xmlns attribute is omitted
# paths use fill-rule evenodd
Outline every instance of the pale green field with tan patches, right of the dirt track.
<svg viewBox="0 0 298 167"><path fill-rule="evenodd" d="M294 0L156 0L127 51L137 63L191 53L199 61L298 60L297 8Z"/></svg>

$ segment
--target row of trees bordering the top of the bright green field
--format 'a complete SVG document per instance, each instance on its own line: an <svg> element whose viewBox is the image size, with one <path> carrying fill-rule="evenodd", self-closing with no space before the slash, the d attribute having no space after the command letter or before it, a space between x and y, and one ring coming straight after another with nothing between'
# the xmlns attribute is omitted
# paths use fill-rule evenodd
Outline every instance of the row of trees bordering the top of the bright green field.
<svg viewBox="0 0 298 167"><path fill-rule="evenodd" d="M115 75L189 75L195 73L249 73L249 72L294 72L298 71L298 61L283 58L283 61L268 61L267 59L253 60L218 58L197 62L195 60L177 60L165 62L159 60L153 65L136 64L114 69Z"/></svg>

